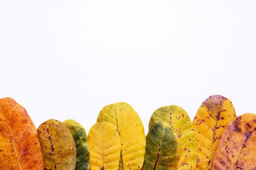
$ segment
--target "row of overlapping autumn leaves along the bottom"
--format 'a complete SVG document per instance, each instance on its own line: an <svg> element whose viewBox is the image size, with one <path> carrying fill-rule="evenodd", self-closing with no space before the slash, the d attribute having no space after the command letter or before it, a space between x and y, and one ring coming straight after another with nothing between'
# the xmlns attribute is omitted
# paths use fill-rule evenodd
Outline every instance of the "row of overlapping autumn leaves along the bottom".
<svg viewBox="0 0 256 170"><path fill-rule="evenodd" d="M156 110L144 134L125 102L105 106L88 138L75 120L36 129L26 110L0 99L0 170L255 170L256 115L236 117L225 97L211 96L193 123L176 105Z"/></svg>

